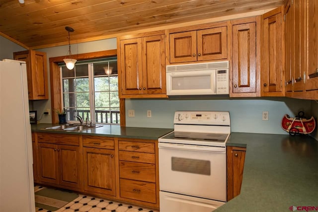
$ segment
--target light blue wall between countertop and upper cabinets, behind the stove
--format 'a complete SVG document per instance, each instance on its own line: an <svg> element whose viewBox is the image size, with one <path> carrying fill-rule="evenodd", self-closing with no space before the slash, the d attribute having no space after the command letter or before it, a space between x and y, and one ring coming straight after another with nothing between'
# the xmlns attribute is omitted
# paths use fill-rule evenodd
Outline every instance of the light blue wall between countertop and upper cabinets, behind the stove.
<svg viewBox="0 0 318 212"><path fill-rule="evenodd" d="M127 99L126 126L173 128L173 115L177 110L230 111L232 132L286 134L281 128L285 114L294 116L298 111L311 113L311 101L291 98L236 99ZM127 117L128 110L135 110L135 117ZM152 118L147 118L147 110ZM269 120L262 121L262 111L269 112Z"/></svg>

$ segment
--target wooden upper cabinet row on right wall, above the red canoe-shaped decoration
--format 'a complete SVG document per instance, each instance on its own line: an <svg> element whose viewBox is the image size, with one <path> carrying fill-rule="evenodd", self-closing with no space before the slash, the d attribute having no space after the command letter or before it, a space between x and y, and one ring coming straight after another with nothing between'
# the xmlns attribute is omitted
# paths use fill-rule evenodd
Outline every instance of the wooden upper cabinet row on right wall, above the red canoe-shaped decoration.
<svg viewBox="0 0 318 212"><path fill-rule="evenodd" d="M284 8L286 96L318 99L318 2L288 0Z"/></svg>

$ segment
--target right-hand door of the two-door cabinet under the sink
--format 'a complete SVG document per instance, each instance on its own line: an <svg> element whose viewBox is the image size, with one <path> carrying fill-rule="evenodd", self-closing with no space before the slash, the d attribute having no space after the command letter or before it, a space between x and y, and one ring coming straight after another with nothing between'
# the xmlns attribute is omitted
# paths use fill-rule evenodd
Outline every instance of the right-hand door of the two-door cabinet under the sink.
<svg viewBox="0 0 318 212"><path fill-rule="evenodd" d="M79 146L58 145L60 163L59 184L73 188L80 188L79 170Z"/></svg>

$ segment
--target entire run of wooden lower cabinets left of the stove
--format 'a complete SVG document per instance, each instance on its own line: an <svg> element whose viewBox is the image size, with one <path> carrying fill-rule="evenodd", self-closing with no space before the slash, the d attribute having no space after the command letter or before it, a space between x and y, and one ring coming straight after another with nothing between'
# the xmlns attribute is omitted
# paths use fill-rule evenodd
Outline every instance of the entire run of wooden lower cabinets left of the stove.
<svg viewBox="0 0 318 212"><path fill-rule="evenodd" d="M36 183L159 210L158 141L56 133L34 138Z"/></svg>

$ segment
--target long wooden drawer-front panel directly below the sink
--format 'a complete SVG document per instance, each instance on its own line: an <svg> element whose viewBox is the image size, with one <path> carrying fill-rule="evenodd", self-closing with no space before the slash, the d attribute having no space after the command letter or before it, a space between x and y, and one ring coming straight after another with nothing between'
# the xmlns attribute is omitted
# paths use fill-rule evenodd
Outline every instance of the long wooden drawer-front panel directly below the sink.
<svg viewBox="0 0 318 212"><path fill-rule="evenodd" d="M38 133L38 142L55 143L79 146L78 135L54 134L54 133Z"/></svg>

